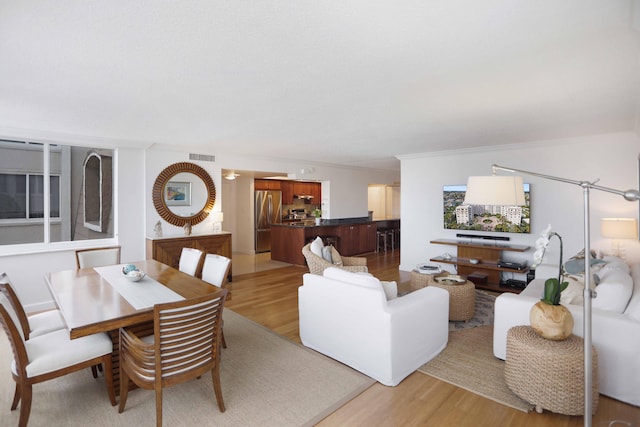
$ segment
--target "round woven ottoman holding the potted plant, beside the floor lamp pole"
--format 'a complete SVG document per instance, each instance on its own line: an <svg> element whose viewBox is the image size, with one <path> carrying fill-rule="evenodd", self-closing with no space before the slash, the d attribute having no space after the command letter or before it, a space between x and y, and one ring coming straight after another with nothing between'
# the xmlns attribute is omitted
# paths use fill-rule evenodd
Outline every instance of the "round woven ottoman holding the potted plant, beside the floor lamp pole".
<svg viewBox="0 0 640 427"><path fill-rule="evenodd" d="M542 338L530 326L507 332L504 379L522 399L564 415L584 415L584 341L571 335L563 341ZM592 347L592 412L598 409L598 355Z"/></svg>

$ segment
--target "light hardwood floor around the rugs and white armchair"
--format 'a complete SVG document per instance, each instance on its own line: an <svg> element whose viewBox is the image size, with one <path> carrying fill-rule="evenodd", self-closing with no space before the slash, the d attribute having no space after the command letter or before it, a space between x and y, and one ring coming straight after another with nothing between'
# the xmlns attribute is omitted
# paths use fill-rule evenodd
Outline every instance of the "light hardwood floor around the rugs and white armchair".
<svg viewBox="0 0 640 427"><path fill-rule="evenodd" d="M400 277L399 251L366 256L369 270L381 280L408 280L407 274ZM234 275L233 299L226 307L300 343L297 290L307 271L305 267L288 266ZM607 427L612 420L640 427L640 408L600 396L593 427ZM415 372L396 387L376 383L318 425L579 427L584 420L548 411L525 414Z"/></svg>

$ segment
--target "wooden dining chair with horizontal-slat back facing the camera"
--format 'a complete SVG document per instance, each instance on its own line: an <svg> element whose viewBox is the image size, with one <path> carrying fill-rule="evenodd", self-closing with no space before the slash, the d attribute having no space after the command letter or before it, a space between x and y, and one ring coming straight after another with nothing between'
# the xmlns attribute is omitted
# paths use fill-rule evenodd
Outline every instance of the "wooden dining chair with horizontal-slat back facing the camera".
<svg viewBox="0 0 640 427"><path fill-rule="evenodd" d="M129 381L155 390L156 425L162 426L162 389L211 372L220 412L225 411L220 385L220 326L226 289L156 304L154 334L139 338L120 328L120 406L127 403Z"/></svg>

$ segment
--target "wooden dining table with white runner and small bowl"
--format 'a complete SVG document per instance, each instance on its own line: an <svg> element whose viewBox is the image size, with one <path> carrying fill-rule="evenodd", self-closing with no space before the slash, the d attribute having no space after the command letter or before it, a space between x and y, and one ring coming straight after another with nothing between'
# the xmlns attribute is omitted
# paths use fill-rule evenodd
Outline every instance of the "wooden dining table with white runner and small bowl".
<svg viewBox="0 0 640 427"><path fill-rule="evenodd" d="M218 288L155 260L136 261L145 276L138 282L123 274L125 264L47 273L45 282L71 339L107 333L113 341L112 373L120 394L119 330L153 334L155 304L195 298Z"/></svg>

